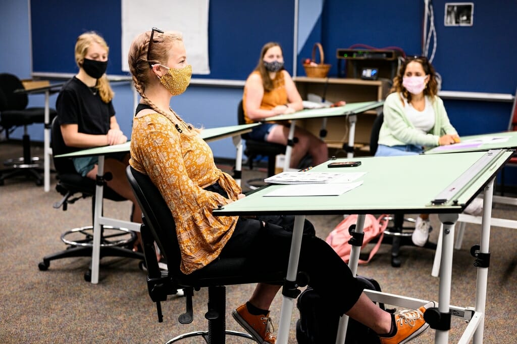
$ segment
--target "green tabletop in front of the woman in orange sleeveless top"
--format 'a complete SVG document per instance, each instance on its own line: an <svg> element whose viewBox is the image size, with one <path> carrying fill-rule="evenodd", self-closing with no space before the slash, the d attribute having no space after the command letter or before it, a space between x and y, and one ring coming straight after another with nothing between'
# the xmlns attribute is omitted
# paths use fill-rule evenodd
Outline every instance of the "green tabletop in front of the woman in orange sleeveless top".
<svg viewBox="0 0 517 344"><path fill-rule="evenodd" d="M267 118L264 118L264 122L290 121L292 119L337 117L337 116L354 115L354 114L358 114L358 113L361 113L364 111L382 107L383 104L384 104L384 100L362 101L362 102L357 102L357 103L348 103L341 107L300 110L295 113L267 117Z"/></svg>

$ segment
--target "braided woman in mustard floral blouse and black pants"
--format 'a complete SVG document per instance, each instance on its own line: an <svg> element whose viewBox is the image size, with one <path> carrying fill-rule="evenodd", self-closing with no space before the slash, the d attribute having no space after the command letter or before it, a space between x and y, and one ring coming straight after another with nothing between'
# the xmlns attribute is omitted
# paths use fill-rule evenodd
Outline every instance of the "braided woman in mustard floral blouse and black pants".
<svg viewBox="0 0 517 344"><path fill-rule="evenodd" d="M286 271L294 216L214 217L212 209L244 197L233 178L214 163L210 147L170 108L185 92L192 67L181 35L153 28L136 37L129 49L129 69L142 100L131 133L131 166L157 186L176 225L180 270L199 271L218 257L244 257L254 271ZM298 268L309 276L336 317L346 313L373 328L383 344L407 342L427 327L423 311L391 315L362 292L346 263L314 235L306 220ZM322 266L326 266L325 269ZM328 274L327 271L332 271ZM261 344L275 344L269 307L280 286L257 283L248 302L232 313Z"/></svg>

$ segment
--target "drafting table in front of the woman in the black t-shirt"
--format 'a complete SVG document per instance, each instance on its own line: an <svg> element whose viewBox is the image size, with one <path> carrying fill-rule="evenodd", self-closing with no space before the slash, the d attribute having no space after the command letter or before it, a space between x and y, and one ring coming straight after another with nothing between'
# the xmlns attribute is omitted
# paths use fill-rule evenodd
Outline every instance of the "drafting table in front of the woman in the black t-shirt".
<svg viewBox="0 0 517 344"><path fill-rule="evenodd" d="M242 166L242 141L240 139L240 134L251 131L251 129L257 125L260 125L260 123L203 129L200 133L201 138L207 142L221 140L227 137L233 137L233 142L235 144L235 147L237 148L237 155L235 159L235 174L238 176L236 181L238 181L239 185ZM129 153L129 147L130 141L123 144L117 144L112 146L84 149L82 151L62 154L56 157L75 158L81 156L98 156L99 162L97 177L102 178L102 176L104 175L104 156L109 156L110 154L114 153ZM92 247L92 283L94 284L99 282L100 226L108 225L117 228L127 228L131 231L140 232L140 223L117 220L113 218L104 217L101 215L103 204L102 191L103 186L97 185L95 192L94 241Z"/></svg>

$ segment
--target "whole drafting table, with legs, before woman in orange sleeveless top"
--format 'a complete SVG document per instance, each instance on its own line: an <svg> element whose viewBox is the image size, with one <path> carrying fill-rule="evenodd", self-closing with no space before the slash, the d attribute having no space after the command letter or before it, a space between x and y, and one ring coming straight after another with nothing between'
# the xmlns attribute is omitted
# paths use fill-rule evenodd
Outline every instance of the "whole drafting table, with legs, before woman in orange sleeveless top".
<svg viewBox="0 0 517 344"><path fill-rule="evenodd" d="M357 122L357 114L380 108L384 104L384 100L380 101L363 101L357 103L347 103L342 107L335 108L322 108L322 109L308 109L301 110L295 113L286 114L286 115L278 115L264 118L263 122L277 122L277 121L290 121L291 126L289 129L289 135L287 137L287 146L285 147L285 161L284 161L284 171L292 170L290 168L291 162L291 151L293 150L293 139L294 139L294 129L296 126L296 119L305 119L305 118L328 118L328 117L339 117L339 116L348 116L348 122L350 123L350 128L348 130L348 146L354 147L355 140L355 124ZM347 158L352 158L354 156L353 152L347 153Z"/></svg>

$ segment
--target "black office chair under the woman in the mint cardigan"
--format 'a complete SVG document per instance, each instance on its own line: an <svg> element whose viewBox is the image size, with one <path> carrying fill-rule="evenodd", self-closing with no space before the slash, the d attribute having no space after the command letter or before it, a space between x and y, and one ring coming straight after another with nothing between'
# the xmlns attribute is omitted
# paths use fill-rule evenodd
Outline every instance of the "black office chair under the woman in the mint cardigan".
<svg viewBox="0 0 517 344"><path fill-rule="evenodd" d="M384 114L380 113L375 118L372 126L372 132L370 134L370 154L372 156L377 152L379 131L384 122ZM405 218L404 214L394 214L388 218L390 224L384 231L383 243L391 244L391 266L400 267L400 247L403 245L415 246L411 240L411 235L415 230L414 223L416 222L413 218ZM436 244L427 242L423 246L424 248L436 249Z"/></svg>

